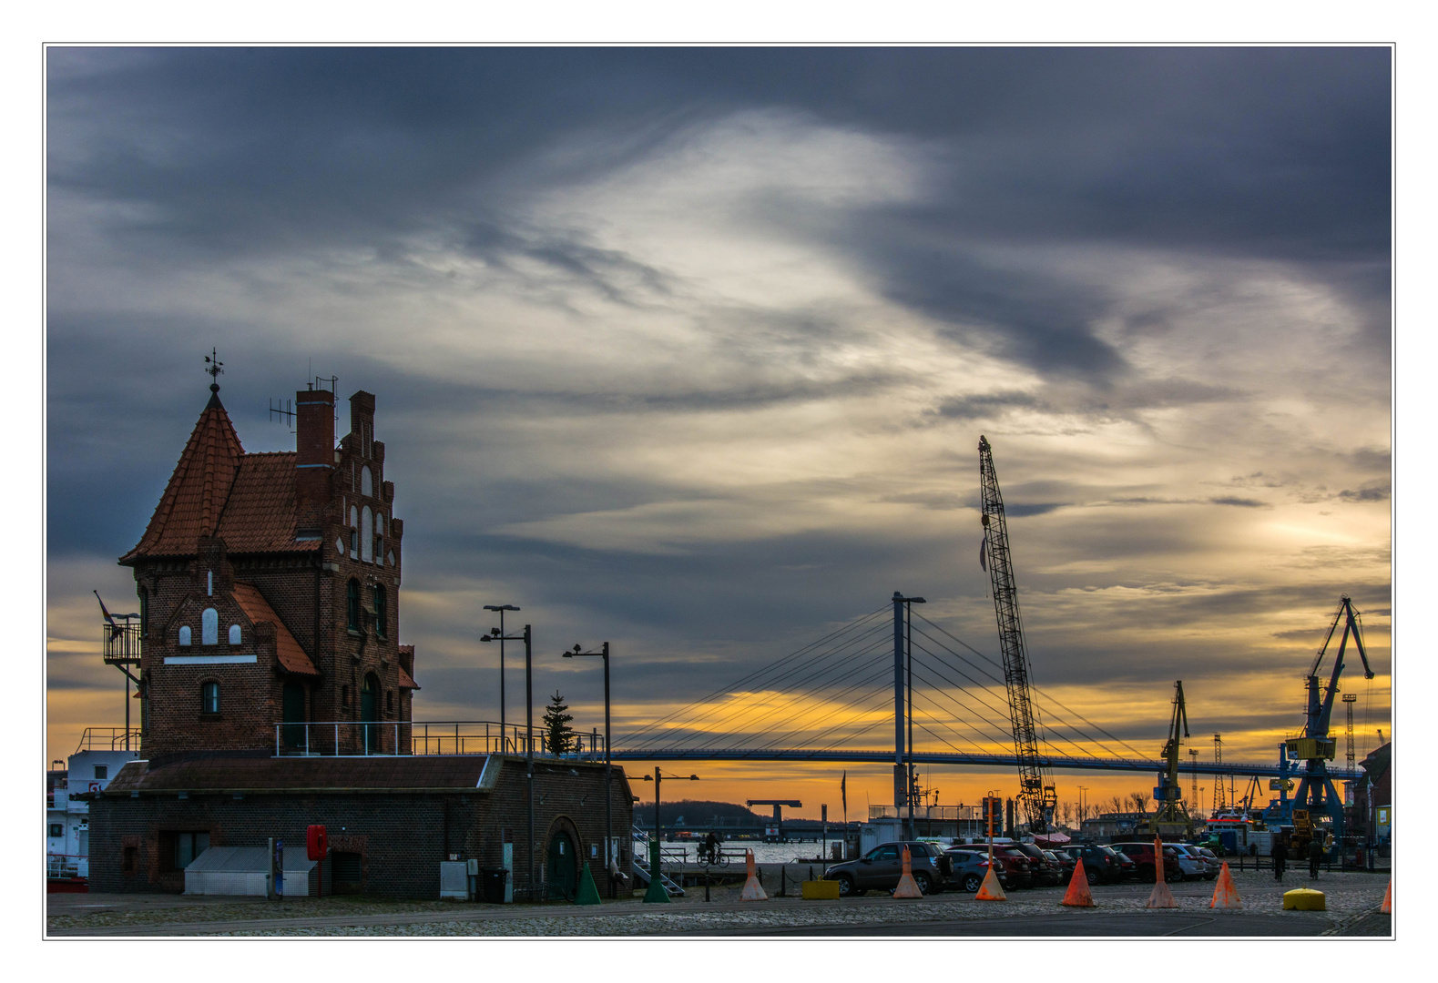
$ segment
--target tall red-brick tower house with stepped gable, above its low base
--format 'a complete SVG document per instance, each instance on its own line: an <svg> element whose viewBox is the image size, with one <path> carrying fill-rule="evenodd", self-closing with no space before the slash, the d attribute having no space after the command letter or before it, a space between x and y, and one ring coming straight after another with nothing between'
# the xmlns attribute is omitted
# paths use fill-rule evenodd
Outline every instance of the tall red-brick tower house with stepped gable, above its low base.
<svg viewBox="0 0 1438 983"><path fill-rule="evenodd" d="M411 719L418 688L414 647L398 642L404 522L374 395L349 397L336 446L335 394L302 389L296 450L247 454L210 391L144 536L119 558L139 595L151 766L267 756L276 742L407 752L408 729L393 726ZM276 727L306 721L378 726Z"/></svg>

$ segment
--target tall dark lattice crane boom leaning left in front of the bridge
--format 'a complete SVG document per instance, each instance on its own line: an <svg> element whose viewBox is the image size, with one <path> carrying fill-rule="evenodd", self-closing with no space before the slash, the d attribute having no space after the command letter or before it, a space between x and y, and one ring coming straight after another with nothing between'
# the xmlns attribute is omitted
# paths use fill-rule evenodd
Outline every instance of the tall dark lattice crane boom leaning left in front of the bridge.
<svg viewBox="0 0 1438 983"><path fill-rule="evenodd" d="M1014 559L1008 549L1004 496L998 490L994 450L986 437L979 437L979 484L984 492L984 549L994 588L999 648L1004 652L1004 684L1008 688L1014 754L1018 757L1018 800L1030 832L1047 832L1058 796L1038 754L1038 714L1028 694L1028 650L1024 645L1024 624L1018 614L1018 588L1014 582Z"/></svg>

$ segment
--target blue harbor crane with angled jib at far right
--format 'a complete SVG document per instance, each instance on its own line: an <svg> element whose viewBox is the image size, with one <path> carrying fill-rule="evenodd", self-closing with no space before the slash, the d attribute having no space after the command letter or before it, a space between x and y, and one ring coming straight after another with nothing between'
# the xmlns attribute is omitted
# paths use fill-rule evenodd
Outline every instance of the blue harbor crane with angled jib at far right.
<svg viewBox="0 0 1438 983"><path fill-rule="evenodd" d="M1333 657L1333 671L1329 674L1327 686L1319 684L1319 667L1333 642L1333 634L1339 622L1343 624L1343 635L1339 640L1339 651ZM1286 795L1278 802L1268 806L1264 819L1268 825L1291 825L1294 832L1294 846L1301 846L1301 841L1313 835L1322 835L1314 826L1320 816L1327 816L1332 823L1334 845L1343 842L1343 796L1339 795L1329 773L1329 762L1337 756L1337 740L1329 736L1329 720L1333 716L1333 697L1339 693L1339 677L1343 674L1343 655L1347 651L1349 637L1357 647L1357 654L1363 660L1363 678L1373 678L1373 670L1368 664L1368 652L1363 648L1363 634L1359 631L1359 617L1353 609L1349 595L1339 601L1337 614L1329 625L1329 634L1323 640L1309 674L1304 677L1309 706L1304 714L1303 736L1290 737L1280 750L1281 763L1296 762L1303 765L1299 773L1299 788L1288 799ZM1280 789L1286 790L1280 780Z"/></svg>

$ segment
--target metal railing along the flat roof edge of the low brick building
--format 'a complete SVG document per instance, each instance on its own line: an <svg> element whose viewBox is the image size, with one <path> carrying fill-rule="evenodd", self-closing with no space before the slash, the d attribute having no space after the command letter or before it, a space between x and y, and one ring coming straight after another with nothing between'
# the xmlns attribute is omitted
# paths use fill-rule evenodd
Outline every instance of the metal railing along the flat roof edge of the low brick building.
<svg viewBox="0 0 1438 983"><path fill-rule="evenodd" d="M275 724L276 757L393 754L528 754L546 760L604 760L604 736L574 734L564 754L545 747L545 732L493 720L328 720Z"/></svg>

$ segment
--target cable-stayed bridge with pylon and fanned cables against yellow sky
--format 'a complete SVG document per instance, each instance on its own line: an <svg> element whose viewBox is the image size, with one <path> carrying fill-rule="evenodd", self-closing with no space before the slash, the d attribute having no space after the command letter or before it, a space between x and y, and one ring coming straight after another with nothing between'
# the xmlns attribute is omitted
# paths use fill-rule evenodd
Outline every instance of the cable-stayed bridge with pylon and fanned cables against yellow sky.
<svg viewBox="0 0 1438 983"><path fill-rule="evenodd" d="M1015 769L1002 665L900 604L886 604L628 734L614 760L890 763ZM892 608L892 617L890 617ZM1045 766L1165 769L1040 687ZM883 734L893 733L893 747ZM876 733L877 732L877 733ZM1158 744L1155 742L1155 750ZM1284 776L1278 763L1185 762L1183 775Z"/></svg>

